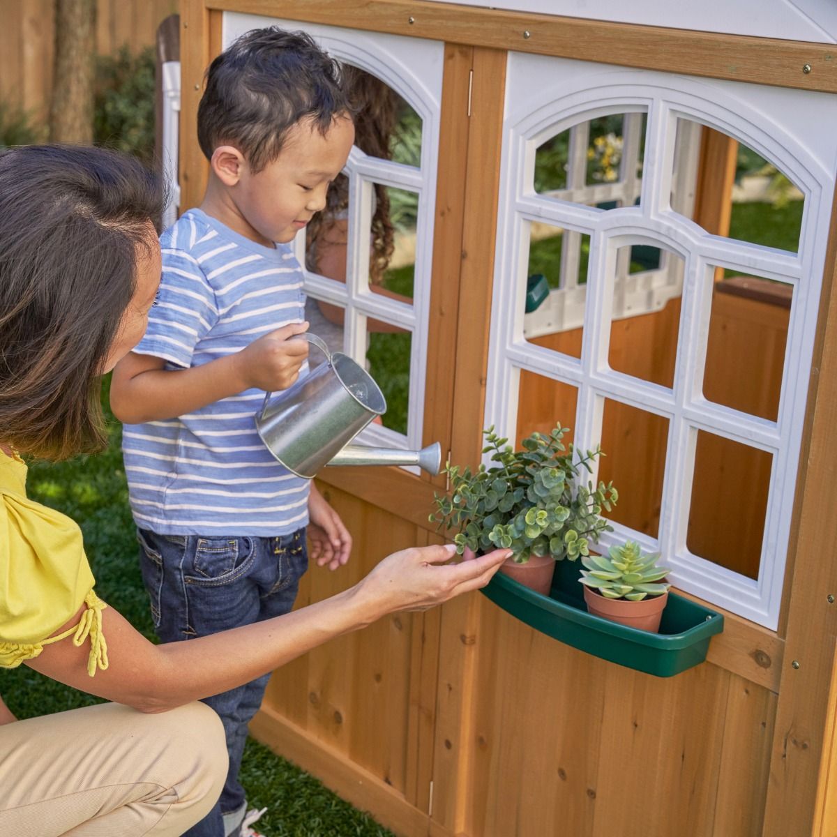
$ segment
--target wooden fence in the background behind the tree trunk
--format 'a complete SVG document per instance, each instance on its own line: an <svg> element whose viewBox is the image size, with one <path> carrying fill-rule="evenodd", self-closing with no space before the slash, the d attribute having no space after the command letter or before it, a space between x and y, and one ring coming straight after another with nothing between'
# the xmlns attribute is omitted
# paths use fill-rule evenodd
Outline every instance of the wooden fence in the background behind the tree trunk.
<svg viewBox="0 0 837 837"><path fill-rule="evenodd" d="M0 0L0 104L44 121L52 90L53 0ZM131 52L154 44L157 26L178 0L97 0L96 52Z"/></svg>

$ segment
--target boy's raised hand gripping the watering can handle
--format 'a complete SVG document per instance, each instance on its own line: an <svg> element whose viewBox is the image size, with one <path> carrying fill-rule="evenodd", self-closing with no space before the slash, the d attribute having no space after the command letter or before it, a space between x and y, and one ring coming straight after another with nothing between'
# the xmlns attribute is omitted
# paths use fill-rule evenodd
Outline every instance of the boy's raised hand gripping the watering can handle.
<svg viewBox="0 0 837 837"><path fill-rule="evenodd" d="M259 337L234 355L244 383L242 389L256 387L275 392L289 388L300 377L300 367L308 359L308 342L290 337L304 331L308 331L307 322L291 323Z"/></svg>

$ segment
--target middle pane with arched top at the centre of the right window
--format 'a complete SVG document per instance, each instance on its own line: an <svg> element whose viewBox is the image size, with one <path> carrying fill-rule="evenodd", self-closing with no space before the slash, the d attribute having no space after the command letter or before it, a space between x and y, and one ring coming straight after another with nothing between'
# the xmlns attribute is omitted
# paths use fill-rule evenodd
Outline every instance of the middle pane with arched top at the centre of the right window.
<svg viewBox="0 0 837 837"><path fill-rule="evenodd" d="M617 372L674 383L684 261L648 245L620 247L608 362Z"/></svg>

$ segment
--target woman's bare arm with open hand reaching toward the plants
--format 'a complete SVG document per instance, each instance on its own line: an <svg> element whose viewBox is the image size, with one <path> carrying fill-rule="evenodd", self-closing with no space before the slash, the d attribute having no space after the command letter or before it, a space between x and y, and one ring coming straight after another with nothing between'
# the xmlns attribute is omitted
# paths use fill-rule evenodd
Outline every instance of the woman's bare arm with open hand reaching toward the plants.
<svg viewBox="0 0 837 837"><path fill-rule="evenodd" d="M498 550L439 566L452 557L450 547L406 549L385 558L344 593L275 619L185 642L152 644L113 608L106 608L106 670L87 675L90 648L87 643L77 648L69 639L47 645L27 665L68 686L141 711L166 711L240 686L387 614L429 608L484 587L509 554Z"/></svg>

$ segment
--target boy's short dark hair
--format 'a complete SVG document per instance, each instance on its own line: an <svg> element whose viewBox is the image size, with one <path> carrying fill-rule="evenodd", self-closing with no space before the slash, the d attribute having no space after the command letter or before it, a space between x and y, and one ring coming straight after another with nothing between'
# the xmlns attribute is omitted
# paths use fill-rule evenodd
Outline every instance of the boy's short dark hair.
<svg viewBox="0 0 837 837"><path fill-rule="evenodd" d="M300 120L325 134L337 116L351 113L340 64L311 35L253 29L209 65L198 142L208 160L218 146L234 146L260 172Z"/></svg>

